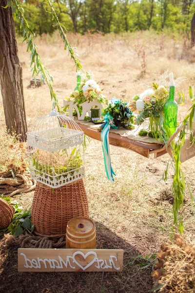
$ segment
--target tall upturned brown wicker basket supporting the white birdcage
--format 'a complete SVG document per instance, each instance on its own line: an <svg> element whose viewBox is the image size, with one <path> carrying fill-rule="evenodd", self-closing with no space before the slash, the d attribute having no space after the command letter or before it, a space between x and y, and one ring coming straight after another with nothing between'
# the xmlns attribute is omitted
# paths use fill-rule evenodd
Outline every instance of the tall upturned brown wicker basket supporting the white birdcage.
<svg viewBox="0 0 195 293"><path fill-rule="evenodd" d="M32 204L32 223L36 234L65 236L68 221L78 216L89 217L82 179L54 189L37 183Z"/></svg>

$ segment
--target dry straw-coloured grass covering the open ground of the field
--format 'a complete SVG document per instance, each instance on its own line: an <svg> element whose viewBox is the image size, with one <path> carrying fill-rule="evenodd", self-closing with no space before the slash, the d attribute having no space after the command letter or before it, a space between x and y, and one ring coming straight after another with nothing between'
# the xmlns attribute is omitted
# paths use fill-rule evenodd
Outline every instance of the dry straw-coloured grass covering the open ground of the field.
<svg viewBox="0 0 195 293"><path fill-rule="evenodd" d="M93 69L96 81L101 82L104 95L108 98L116 96L129 101L135 94L140 93L147 86L151 86L152 82L157 82L166 69L173 71L175 77L186 76L186 84L195 80L194 64L191 63L195 51L189 51L187 45L184 47L184 41L177 36L172 38L156 35L152 32L137 32L119 36L113 34L105 36L101 34L92 36L90 34L85 36L68 34L68 39L73 46L78 47L77 51L83 69L85 71ZM42 62L54 76L54 89L62 105L63 98L68 96L75 87L74 64L67 57L67 53L63 51L63 45L57 34L52 37L38 38L37 44ZM146 66L145 64L144 66L146 68L142 78L140 74L143 60L137 58L136 45L140 45L145 50L144 62ZM19 43L20 61L23 62L27 124L30 126L36 118L49 113L52 102L50 102L47 85L43 85L41 88L27 88L31 79L31 71L29 69L29 56L25 51L25 44ZM187 104L179 108L179 119L185 115L189 105L190 102L187 100ZM0 126L4 127L1 101L0 114ZM89 198L90 217L98 223L98 247L126 248L124 260L126 269L124 274L84 274L81 275L77 284L71 274L71 279L74 282L71 292L147 292L151 288L150 271L139 273L136 266L131 267L128 264L132 257L138 254L146 255L156 252L161 238L168 236L172 227L172 204L164 200L162 196L162 191L171 187L172 174L170 174L167 184L160 181L169 156L164 155L157 159L151 157L148 160L128 149L116 146L111 146L110 149L113 169L117 173L115 183L111 184L106 179L100 142L91 140L85 153L85 187ZM182 165L189 185L195 191L195 158ZM24 207L29 207L32 195L31 192L30 194L17 195L15 198ZM184 208L184 226L186 234L190 234L195 232L195 212L190 205L188 192ZM105 238L106 235L107 238ZM102 239L105 239L103 246ZM6 259L6 253L3 254L4 259ZM14 254L16 251L12 253ZM11 255L8 255L5 265L10 259ZM16 264L12 263L12 265ZM38 274L31 276L35 280ZM27 274L23 274L23 278L27 277ZM47 292L69 292L65 289L63 291L60 286L54 286L52 274L45 276L45 278L48 284ZM87 281L84 282L84 278ZM15 277L10 277L10 286L14 284L14 279ZM21 276L20 281L22 281ZM61 277L59 277L59 281L62 281ZM3 284L5 282L6 279ZM138 284L142 285L138 286ZM25 282L25 286L27 285L30 286L30 280ZM19 292L25 292L25 286L23 284ZM31 289L29 292L46 292L46 289L43 290L43 286L41 286L35 291ZM9 292L15 291L13 289Z"/></svg>

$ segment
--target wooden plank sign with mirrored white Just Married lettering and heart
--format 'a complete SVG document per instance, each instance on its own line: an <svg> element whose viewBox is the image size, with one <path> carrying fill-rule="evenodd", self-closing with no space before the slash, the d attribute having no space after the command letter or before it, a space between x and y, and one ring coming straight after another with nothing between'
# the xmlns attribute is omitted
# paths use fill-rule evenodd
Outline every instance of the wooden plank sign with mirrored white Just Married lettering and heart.
<svg viewBox="0 0 195 293"><path fill-rule="evenodd" d="M122 272L123 250L18 250L19 272Z"/></svg>

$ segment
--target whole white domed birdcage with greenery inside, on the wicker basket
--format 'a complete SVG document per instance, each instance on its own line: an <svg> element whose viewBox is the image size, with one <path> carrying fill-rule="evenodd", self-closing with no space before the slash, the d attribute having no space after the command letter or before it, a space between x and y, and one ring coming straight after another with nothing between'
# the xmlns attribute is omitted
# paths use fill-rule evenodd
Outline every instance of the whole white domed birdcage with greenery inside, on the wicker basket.
<svg viewBox="0 0 195 293"><path fill-rule="evenodd" d="M83 178L83 137L78 124L56 110L36 120L27 132L32 178L52 188Z"/></svg>

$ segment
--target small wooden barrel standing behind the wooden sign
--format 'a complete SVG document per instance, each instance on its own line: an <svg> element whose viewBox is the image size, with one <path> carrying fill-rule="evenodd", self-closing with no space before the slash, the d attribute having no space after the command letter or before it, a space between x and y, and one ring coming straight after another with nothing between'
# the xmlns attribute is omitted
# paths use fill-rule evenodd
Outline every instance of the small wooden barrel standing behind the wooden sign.
<svg viewBox="0 0 195 293"><path fill-rule="evenodd" d="M66 248L96 248L96 226L91 219L76 217L68 222Z"/></svg>

